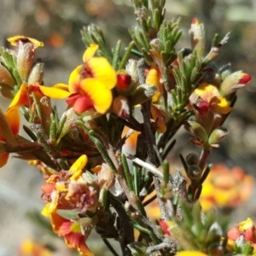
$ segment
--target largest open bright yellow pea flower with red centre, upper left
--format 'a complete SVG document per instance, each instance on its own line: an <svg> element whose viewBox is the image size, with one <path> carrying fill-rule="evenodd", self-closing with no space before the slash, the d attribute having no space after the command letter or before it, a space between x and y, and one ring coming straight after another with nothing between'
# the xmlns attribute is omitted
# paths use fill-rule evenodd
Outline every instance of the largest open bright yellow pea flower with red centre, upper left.
<svg viewBox="0 0 256 256"><path fill-rule="evenodd" d="M56 84L68 90L67 104L77 113L94 108L98 113L106 113L112 103L112 89L117 83L116 73L107 59L94 57L97 44L91 44L84 52L84 65L71 73L68 85ZM49 95L50 96L50 95Z"/></svg>

